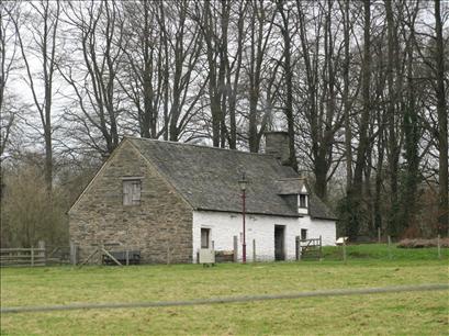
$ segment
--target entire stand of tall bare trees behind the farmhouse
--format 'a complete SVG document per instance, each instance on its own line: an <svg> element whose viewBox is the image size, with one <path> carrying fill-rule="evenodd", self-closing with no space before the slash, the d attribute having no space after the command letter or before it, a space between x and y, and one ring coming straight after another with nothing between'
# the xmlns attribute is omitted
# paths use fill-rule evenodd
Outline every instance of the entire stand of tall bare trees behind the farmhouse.
<svg viewBox="0 0 449 336"><path fill-rule="evenodd" d="M267 128L287 127L290 165L313 175L321 198L343 198L352 238L375 227L408 234L426 188L439 195L433 223L446 232L441 1L41 0L0 10L0 157L16 142L11 130L37 131L47 192L59 182L59 144L74 157L106 157L138 134L257 153ZM24 74L36 117L20 117L8 90L22 64L14 74Z"/></svg>

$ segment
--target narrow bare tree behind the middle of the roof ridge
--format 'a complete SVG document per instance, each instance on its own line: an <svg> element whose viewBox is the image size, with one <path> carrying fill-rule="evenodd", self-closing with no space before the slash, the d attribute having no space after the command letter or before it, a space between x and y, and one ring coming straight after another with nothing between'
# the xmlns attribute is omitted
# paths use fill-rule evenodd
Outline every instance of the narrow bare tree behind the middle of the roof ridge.
<svg viewBox="0 0 449 336"><path fill-rule="evenodd" d="M195 3L191 18L200 26L204 42L210 115L205 115L212 143L236 148L237 105L245 43L244 23L248 3L205 1Z"/></svg>

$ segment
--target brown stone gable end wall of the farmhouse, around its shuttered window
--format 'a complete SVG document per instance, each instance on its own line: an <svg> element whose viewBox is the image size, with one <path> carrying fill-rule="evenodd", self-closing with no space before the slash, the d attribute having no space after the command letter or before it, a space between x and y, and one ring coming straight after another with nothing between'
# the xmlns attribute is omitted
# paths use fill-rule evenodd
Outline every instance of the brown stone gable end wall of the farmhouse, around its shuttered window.
<svg viewBox="0 0 449 336"><path fill-rule="evenodd" d="M123 205L123 177L142 177L141 205ZM126 141L69 211L69 232L81 261L96 244L120 244L108 249L139 249L145 264L192 262L192 209Z"/></svg>

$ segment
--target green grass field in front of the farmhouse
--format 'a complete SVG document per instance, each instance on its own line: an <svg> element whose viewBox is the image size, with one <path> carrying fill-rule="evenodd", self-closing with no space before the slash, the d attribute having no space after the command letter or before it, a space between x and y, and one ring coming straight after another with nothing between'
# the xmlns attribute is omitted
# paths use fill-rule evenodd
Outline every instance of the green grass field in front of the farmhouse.
<svg viewBox="0 0 449 336"><path fill-rule="evenodd" d="M326 248L324 261L1 269L2 306L172 301L448 283L449 251ZM1 335L447 335L449 291L3 314Z"/></svg>

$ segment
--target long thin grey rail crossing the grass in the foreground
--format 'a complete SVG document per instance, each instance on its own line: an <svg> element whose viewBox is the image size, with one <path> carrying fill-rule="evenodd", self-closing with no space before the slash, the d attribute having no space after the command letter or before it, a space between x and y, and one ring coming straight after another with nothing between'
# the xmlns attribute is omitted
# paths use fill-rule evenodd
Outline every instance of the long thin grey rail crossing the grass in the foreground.
<svg viewBox="0 0 449 336"><path fill-rule="evenodd" d="M42 305L42 306L13 306L1 307L0 313L45 313L55 311L75 311L75 310L113 310L113 309L142 309L142 307L168 307L168 306L191 306L191 305L209 305L223 303L244 303L267 300L292 300L304 298L319 296L348 296L348 295L366 295L366 294L382 294L382 293L401 293L401 292L422 292L422 291L442 291L449 290L448 283L431 283L417 285L401 285L401 287L378 287L378 288L360 288L360 289L337 289L312 292L298 292L273 295L248 295L248 296L229 296L229 298L212 298L189 301L149 301L149 302L128 302L128 303L83 303L68 305Z"/></svg>

